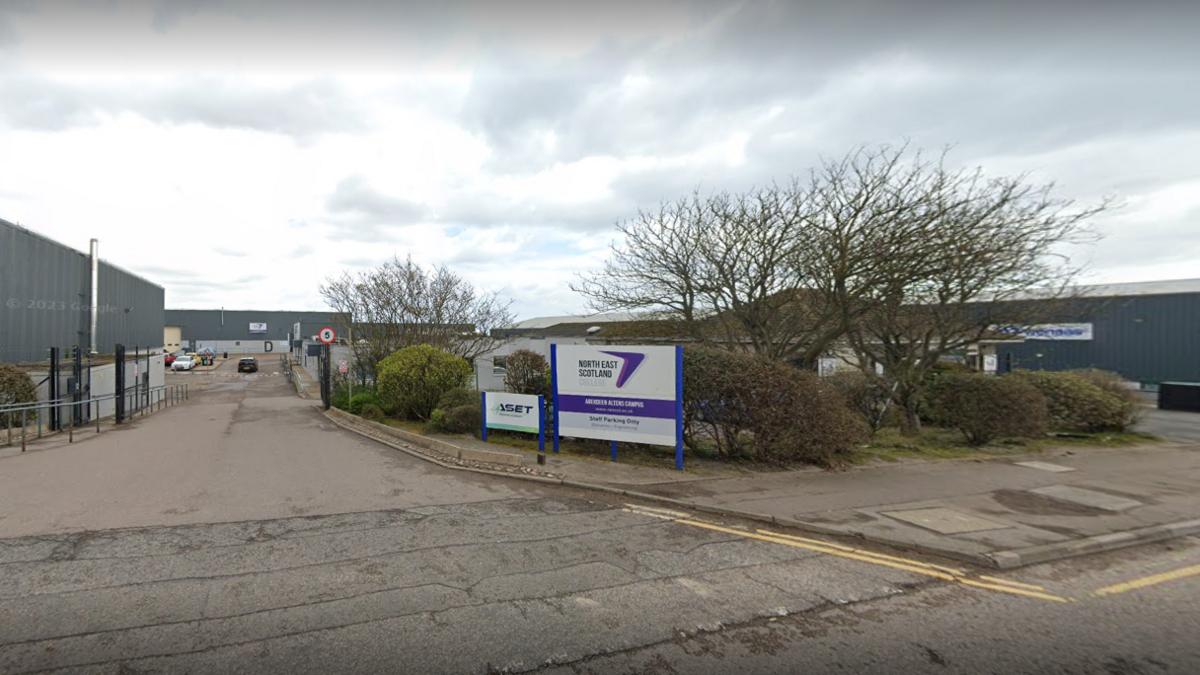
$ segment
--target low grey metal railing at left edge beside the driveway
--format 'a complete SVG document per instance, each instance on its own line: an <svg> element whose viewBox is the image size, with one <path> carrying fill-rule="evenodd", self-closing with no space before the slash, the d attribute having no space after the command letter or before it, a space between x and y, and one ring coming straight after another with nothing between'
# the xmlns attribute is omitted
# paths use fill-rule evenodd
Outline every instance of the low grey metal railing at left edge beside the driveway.
<svg viewBox="0 0 1200 675"><path fill-rule="evenodd" d="M89 399L80 399L78 401L64 398L52 401L2 405L0 406L0 424L4 424L4 426L7 428L8 436L5 447L12 447L14 436L13 429L16 426L14 423L18 420L20 424L20 452L25 452L30 425L36 424L37 426L37 436L35 436L35 440L41 438L43 430L47 430L46 423L52 419L58 420L58 429L48 429L48 431L61 432L65 428L67 437L72 443L74 442L76 426L83 428L95 423L96 434L100 434L100 422L101 419L106 419L100 414L100 404L103 401L113 401L112 417L115 417L116 411L119 410L116 399L124 399L121 402L125 404L124 419L116 420L116 423L120 424L121 422L125 422L125 419L133 419L139 414L145 417L149 412L186 401L187 384L134 387L126 389L120 394L104 394L102 396L92 396ZM48 414L52 411L56 411L58 414ZM65 420L64 417L66 417ZM79 424L76 424L77 419L79 420Z"/></svg>

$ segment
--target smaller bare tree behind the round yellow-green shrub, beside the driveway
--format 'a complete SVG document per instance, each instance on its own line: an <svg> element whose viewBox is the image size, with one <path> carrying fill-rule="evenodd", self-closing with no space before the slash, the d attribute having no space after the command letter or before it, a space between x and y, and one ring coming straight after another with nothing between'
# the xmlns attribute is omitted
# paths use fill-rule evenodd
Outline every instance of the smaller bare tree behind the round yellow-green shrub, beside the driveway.
<svg viewBox="0 0 1200 675"><path fill-rule="evenodd" d="M467 360L494 348L493 328L511 325L511 300L480 293L444 265L430 270L412 257L394 258L358 274L342 273L320 294L350 336L365 376L410 345L431 345Z"/></svg>

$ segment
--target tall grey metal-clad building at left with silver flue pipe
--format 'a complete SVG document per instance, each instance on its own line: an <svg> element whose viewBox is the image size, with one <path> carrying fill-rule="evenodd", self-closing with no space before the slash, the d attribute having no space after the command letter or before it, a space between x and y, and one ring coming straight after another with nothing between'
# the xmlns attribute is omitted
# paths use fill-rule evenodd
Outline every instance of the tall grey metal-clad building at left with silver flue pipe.
<svg viewBox="0 0 1200 675"><path fill-rule="evenodd" d="M161 347L163 288L113 264L98 263L96 351ZM0 220L0 362L40 363L49 348L64 357L88 350L91 330L91 258Z"/></svg>

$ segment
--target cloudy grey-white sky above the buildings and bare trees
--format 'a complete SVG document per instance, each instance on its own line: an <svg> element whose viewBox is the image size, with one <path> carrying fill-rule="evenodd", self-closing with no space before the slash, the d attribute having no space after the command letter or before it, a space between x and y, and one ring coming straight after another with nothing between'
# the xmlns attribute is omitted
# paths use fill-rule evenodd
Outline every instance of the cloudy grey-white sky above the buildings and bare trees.
<svg viewBox="0 0 1200 675"><path fill-rule="evenodd" d="M613 223L907 139L1123 204L1096 282L1200 276L1200 4L0 0L0 217L168 307L319 310L412 255L581 313Z"/></svg>

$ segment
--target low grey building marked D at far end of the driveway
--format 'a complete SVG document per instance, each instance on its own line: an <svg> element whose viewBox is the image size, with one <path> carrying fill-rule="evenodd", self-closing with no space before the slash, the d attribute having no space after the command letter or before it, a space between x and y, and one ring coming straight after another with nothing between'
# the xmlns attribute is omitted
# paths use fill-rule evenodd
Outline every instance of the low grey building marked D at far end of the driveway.
<svg viewBox="0 0 1200 675"><path fill-rule="evenodd" d="M325 325L340 330L332 322L332 312L167 310L166 319L168 335L179 329L180 348L210 347L234 353L286 352L296 322L300 338L312 338ZM174 351L172 340L166 342Z"/></svg>

